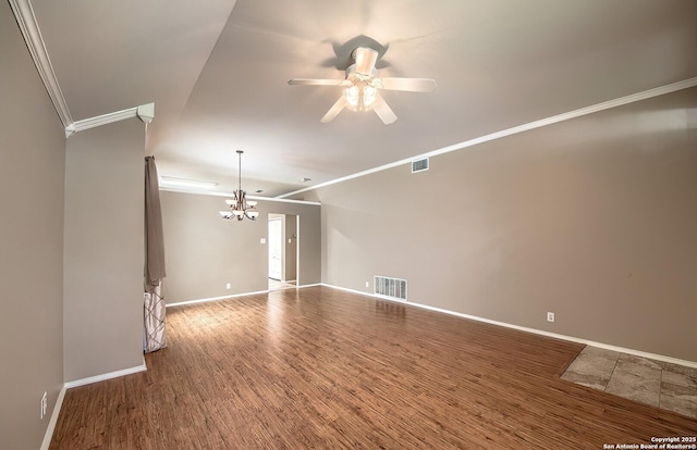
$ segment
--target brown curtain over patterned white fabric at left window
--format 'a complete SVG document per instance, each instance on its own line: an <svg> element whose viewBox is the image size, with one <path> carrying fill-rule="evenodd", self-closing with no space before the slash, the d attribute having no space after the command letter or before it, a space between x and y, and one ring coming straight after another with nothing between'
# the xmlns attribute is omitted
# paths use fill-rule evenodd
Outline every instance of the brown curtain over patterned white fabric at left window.
<svg viewBox="0 0 697 450"><path fill-rule="evenodd" d="M164 238L155 158L145 159L145 295L143 351L167 347L167 305L162 296Z"/></svg>

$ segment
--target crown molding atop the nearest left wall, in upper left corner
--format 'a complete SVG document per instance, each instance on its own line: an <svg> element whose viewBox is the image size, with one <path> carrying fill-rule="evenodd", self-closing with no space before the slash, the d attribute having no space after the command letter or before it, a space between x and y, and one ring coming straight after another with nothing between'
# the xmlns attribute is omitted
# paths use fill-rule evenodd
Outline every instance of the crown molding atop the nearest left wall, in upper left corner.
<svg viewBox="0 0 697 450"><path fill-rule="evenodd" d="M46 51L41 30L34 15L34 8L32 8L29 0L10 0L10 7L20 25L20 30L44 82L44 86L46 86L46 90L53 102L56 112L58 112L63 126L68 128L73 123L73 118L70 115L63 91L58 84L53 65L51 65L51 60Z"/></svg>

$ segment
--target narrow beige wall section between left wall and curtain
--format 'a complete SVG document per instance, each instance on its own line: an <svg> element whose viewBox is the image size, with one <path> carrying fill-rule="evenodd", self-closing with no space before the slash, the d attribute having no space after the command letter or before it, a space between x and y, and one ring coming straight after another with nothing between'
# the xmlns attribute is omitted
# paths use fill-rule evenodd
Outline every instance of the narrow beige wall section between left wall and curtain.
<svg viewBox="0 0 697 450"><path fill-rule="evenodd" d="M68 140L65 382L143 364L144 145L137 118Z"/></svg>

